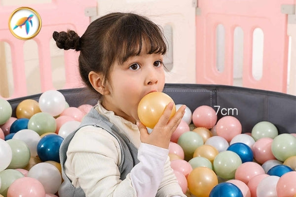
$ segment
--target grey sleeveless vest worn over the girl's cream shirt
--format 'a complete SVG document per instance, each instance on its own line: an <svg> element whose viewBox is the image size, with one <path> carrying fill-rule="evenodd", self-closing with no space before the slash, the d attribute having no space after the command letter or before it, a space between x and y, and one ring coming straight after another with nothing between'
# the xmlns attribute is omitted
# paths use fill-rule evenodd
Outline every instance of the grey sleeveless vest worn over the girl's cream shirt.
<svg viewBox="0 0 296 197"><path fill-rule="evenodd" d="M118 169L120 171L120 179L124 180L126 175L131 171L131 169L139 163L137 159L138 149L132 144L129 139L122 133L119 132L118 128L113 125L105 116L98 113L98 111L94 108L90 110L90 112L83 118L81 125L76 130L78 131L81 127L84 126L95 126L100 127L113 135L119 145L121 150L121 163L118 165ZM70 133L62 142L60 147L60 160L62 166L62 176L64 182L59 188L59 196L60 197L85 197L85 193L83 190L79 188L75 188L71 180L65 174L64 164L67 159L67 150L71 139L73 138L76 131Z"/></svg>

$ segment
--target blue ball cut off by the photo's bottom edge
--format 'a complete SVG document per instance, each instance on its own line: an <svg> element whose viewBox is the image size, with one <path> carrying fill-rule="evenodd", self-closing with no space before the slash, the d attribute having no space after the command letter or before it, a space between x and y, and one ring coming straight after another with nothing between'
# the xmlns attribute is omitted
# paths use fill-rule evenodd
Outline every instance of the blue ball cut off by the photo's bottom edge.
<svg viewBox="0 0 296 197"><path fill-rule="evenodd" d="M243 194L236 185L223 182L212 189L209 197L243 197Z"/></svg>

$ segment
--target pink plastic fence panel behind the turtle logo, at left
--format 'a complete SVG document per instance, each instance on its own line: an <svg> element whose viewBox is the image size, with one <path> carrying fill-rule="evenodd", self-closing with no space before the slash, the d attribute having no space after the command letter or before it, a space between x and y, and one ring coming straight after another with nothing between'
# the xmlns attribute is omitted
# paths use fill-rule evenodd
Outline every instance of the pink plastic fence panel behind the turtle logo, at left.
<svg viewBox="0 0 296 197"><path fill-rule="evenodd" d="M0 41L7 42L11 49L12 72L14 92L9 98L27 96L26 75L23 45L25 40L15 38L8 29L8 20L11 13L22 6L31 7L36 10L42 21L40 32L33 38L38 46L39 70L41 91L54 89L52 82L52 65L50 57L50 39L54 31L67 31L72 29L82 35L90 23L91 14L96 12L96 0L52 0L45 4L24 4L18 6L0 6ZM74 50L65 51L65 73L66 83L64 88L81 87L82 83L78 73L79 53ZM1 73L3 74L3 73ZM1 97L1 96L0 96Z"/></svg>

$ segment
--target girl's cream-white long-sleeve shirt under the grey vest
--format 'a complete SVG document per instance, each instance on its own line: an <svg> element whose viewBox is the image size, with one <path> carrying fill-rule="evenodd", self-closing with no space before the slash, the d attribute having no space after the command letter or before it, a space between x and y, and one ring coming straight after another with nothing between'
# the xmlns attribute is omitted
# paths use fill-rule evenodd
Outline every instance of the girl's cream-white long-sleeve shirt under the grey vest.
<svg viewBox="0 0 296 197"><path fill-rule="evenodd" d="M141 143L135 124L114 115L100 103L96 106L139 149L139 164L120 180L119 143L108 131L86 126L71 140L65 173L86 197L186 197L170 167L168 149Z"/></svg>

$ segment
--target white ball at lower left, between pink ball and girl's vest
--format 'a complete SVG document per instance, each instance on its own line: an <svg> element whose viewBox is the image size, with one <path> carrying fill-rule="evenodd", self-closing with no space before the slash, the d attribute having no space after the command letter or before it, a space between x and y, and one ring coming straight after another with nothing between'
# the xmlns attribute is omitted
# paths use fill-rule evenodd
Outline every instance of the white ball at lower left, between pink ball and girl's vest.
<svg viewBox="0 0 296 197"><path fill-rule="evenodd" d="M57 193L62 184L60 171L53 164L38 163L29 170L27 177L32 177L40 181L46 194Z"/></svg>

